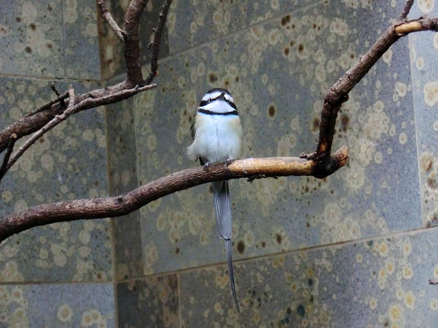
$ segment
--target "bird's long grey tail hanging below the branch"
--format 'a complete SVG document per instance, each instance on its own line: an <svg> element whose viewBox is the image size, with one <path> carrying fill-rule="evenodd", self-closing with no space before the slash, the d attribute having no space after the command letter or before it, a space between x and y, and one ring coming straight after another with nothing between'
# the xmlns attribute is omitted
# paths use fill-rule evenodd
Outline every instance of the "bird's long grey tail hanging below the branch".
<svg viewBox="0 0 438 328"><path fill-rule="evenodd" d="M211 183L213 187L215 209L216 209L216 227L218 236L225 241L225 248L228 258L228 274L230 276L231 291L233 292L234 302L236 303L237 312L240 312L239 304L236 296L236 286L234 283L233 274L233 258L231 247L231 236L233 234L233 226L231 222L231 204L230 191L228 189L228 181L214 181Z"/></svg>

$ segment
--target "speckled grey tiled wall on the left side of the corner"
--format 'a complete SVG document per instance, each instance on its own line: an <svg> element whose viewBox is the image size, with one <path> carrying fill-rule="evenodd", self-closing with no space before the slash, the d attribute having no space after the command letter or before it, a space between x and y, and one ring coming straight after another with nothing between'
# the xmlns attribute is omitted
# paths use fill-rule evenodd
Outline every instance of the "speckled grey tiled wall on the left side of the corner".
<svg viewBox="0 0 438 328"><path fill-rule="evenodd" d="M94 0L0 1L0 129L56 98L101 86ZM84 60L86 58L86 60ZM40 138L0 187L0 215L108 195L105 109ZM24 140L20 140L16 149ZM2 158L2 156L1 156ZM30 229L0 246L0 327L115 327L110 220Z"/></svg>

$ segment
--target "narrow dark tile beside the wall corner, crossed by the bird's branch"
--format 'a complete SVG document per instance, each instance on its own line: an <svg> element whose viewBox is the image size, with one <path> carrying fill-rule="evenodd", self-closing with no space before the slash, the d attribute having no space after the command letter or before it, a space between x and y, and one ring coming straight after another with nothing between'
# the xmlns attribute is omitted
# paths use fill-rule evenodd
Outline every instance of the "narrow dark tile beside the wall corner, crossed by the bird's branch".
<svg viewBox="0 0 438 328"><path fill-rule="evenodd" d="M108 163L110 195L138 187L133 100L109 105ZM117 280L143 275L140 213L114 218L115 274Z"/></svg>

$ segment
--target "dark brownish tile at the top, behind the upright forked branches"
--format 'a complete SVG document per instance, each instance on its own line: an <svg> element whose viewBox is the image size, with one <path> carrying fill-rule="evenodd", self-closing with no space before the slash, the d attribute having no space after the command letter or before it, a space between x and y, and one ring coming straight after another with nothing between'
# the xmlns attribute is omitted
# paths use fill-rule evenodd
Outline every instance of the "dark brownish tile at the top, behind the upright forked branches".
<svg viewBox="0 0 438 328"><path fill-rule="evenodd" d="M108 0L106 1L112 17L123 28L126 8L129 1ZM146 9L140 18L139 38L140 38L140 61L142 65L150 63L150 50L147 45L153 38L152 29L157 26L158 13L163 4L162 0L147 1ZM99 11L99 26L101 38L101 65L102 77L110 79L116 75L126 72L125 60L121 41L112 32L107 22L102 20ZM164 58L169 54L169 45L167 38L167 28L162 33L160 42L159 58ZM149 66L145 72L149 72ZM146 76L146 75L145 75Z"/></svg>

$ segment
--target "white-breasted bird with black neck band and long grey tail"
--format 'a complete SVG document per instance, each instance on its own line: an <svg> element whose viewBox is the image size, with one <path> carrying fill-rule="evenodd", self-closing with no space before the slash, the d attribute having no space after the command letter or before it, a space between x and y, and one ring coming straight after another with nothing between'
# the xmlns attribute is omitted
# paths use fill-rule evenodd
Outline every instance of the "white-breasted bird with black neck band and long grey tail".
<svg viewBox="0 0 438 328"><path fill-rule="evenodd" d="M211 163L230 163L239 156L242 143L242 126L233 97L227 89L213 88L202 97L190 129L192 144L187 148L190 159L199 159L204 169ZM232 258L232 213L228 181L214 181L213 199L216 209L218 237L225 242L228 275L237 312L236 286Z"/></svg>

